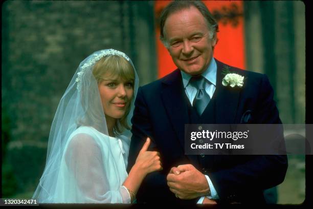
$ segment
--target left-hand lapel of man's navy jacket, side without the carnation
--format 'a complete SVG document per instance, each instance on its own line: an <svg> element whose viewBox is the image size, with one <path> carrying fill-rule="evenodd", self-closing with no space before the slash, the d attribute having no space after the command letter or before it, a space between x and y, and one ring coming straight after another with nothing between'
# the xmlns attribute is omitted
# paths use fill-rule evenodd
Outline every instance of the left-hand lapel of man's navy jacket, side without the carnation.
<svg viewBox="0 0 313 209"><path fill-rule="evenodd" d="M189 116L187 107L188 101L186 101L185 98L185 90L180 70L175 70L163 81L162 99L167 115L180 141L181 148L185 151L185 124L189 123ZM198 163L196 155L186 156L193 163Z"/></svg>

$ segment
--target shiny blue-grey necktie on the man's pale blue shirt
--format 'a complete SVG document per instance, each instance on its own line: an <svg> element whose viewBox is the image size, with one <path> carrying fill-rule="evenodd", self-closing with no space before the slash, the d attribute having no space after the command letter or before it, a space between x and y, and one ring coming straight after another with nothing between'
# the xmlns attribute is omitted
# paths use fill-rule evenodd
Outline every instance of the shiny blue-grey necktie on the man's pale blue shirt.
<svg viewBox="0 0 313 209"><path fill-rule="evenodd" d="M206 92L206 79L203 76L194 76L190 79L190 84L197 88L197 93L193 99L192 106L197 111L198 115L202 115L206 109L211 97Z"/></svg>

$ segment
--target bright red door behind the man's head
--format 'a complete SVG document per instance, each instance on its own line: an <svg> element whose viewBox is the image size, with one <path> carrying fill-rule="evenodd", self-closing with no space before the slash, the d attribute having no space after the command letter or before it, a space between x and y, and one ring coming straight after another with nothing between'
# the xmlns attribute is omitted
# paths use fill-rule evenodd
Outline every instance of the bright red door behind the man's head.
<svg viewBox="0 0 313 209"><path fill-rule="evenodd" d="M170 1L155 1L155 17L159 21L162 9ZM218 21L218 43L214 48L214 57L228 65L245 69L244 23L242 1L204 1L209 11ZM163 77L177 67L167 49L161 43L159 22L155 29L158 56L158 77Z"/></svg>

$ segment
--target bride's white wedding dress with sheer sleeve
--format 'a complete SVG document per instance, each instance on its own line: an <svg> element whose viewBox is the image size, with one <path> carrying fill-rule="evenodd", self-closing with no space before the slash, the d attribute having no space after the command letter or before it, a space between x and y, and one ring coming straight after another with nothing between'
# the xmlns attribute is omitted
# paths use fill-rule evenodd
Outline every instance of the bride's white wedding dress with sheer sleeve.
<svg viewBox="0 0 313 209"><path fill-rule="evenodd" d="M65 145L56 192L49 202L130 203L123 182L130 138L110 137L92 127L79 127Z"/></svg>

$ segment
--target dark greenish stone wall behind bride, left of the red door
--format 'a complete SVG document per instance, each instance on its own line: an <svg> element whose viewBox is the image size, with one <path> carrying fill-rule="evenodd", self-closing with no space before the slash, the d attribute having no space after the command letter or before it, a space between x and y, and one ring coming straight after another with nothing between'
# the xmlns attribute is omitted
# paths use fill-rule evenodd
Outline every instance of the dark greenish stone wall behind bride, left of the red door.
<svg viewBox="0 0 313 209"><path fill-rule="evenodd" d="M140 85L157 78L153 2L7 1L2 11L3 149L18 191L32 192L58 102L80 61L114 48L132 59Z"/></svg>

